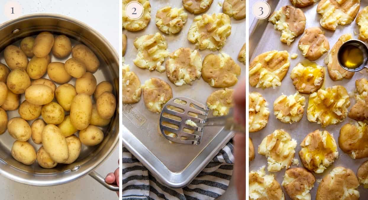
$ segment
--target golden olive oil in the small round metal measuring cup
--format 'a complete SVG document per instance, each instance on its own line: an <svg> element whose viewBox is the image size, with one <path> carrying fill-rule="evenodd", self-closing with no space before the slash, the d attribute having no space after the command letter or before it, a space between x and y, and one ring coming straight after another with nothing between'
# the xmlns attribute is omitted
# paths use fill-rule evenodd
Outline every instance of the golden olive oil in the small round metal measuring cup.
<svg viewBox="0 0 368 200"><path fill-rule="evenodd" d="M363 51L355 45L346 45L340 50L341 61L348 69L357 69L364 62Z"/></svg>

